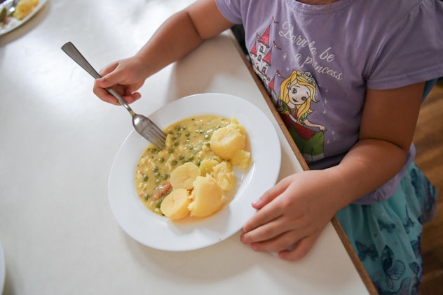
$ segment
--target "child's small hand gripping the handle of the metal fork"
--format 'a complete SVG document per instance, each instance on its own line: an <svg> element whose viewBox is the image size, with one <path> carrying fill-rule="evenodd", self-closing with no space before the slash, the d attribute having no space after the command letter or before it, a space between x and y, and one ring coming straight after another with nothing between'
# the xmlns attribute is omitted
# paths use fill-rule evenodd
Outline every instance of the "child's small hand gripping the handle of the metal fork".
<svg viewBox="0 0 443 295"><path fill-rule="evenodd" d="M108 87L114 88L127 103L132 103L141 97L136 92L146 79L144 62L141 58L135 56L109 64L100 71L100 75L102 78L94 82L94 93L102 101L120 105L117 99L107 92L105 88Z"/></svg>

